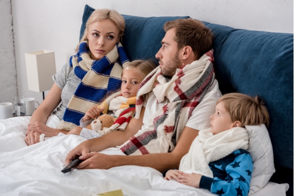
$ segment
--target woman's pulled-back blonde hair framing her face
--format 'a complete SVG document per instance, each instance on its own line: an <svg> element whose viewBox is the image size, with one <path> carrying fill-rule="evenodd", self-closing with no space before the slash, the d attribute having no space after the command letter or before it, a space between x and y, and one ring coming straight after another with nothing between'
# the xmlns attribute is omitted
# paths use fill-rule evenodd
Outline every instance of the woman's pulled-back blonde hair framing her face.
<svg viewBox="0 0 294 196"><path fill-rule="evenodd" d="M101 20L110 20L112 21L117 28L119 29L119 39L122 38L123 33L124 33L124 26L125 26L125 22L124 22L124 18L121 14L119 14L117 11L115 10L111 10L111 9L96 9L91 16L89 17L87 23L86 23L86 28L84 31L84 35L81 38L79 44L77 45L75 51L78 51L78 47L80 45L80 43L82 43L83 41L88 40L87 38L87 34L88 34L88 28L89 25L91 25L94 22L97 21L101 21Z"/></svg>

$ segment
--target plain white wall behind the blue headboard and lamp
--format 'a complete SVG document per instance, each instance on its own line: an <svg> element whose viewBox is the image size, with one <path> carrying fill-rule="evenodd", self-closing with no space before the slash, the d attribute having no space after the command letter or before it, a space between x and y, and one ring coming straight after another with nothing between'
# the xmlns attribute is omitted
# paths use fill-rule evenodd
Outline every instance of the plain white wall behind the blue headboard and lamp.
<svg viewBox="0 0 294 196"><path fill-rule="evenodd" d="M12 0L20 95L42 100L42 93L27 90L25 52L55 51L58 71L74 54L85 4L127 15L189 15L234 28L293 33L293 0Z"/></svg>

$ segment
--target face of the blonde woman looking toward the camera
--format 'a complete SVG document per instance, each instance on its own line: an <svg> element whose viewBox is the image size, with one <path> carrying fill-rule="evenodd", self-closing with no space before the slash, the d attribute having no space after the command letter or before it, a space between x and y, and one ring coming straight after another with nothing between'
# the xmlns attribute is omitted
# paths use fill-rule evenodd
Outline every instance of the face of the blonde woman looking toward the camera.
<svg viewBox="0 0 294 196"><path fill-rule="evenodd" d="M101 20L92 23L88 27L87 38L91 58L100 60L110 52L119 41L119 29L110 20Z"/></svg>

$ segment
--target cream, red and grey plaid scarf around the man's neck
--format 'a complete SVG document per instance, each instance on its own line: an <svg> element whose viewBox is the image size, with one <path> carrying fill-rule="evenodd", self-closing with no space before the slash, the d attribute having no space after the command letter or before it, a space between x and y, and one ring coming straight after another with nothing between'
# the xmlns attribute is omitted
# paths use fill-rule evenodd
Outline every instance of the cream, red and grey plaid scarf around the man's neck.
<svg viewBox="0 0 294 196"><path fill-rule="evenodd" d="M210 50L199 60L177 69L171 80L161 74L159 67L147 75L137 93L135 118L140 117L143 95L150 91L159 103L166 98L169 103L153 115L153 126L139 130L120 147L126 155L162 153L174 149L193 110L214 81L213 61L213 50Z"/></svg>

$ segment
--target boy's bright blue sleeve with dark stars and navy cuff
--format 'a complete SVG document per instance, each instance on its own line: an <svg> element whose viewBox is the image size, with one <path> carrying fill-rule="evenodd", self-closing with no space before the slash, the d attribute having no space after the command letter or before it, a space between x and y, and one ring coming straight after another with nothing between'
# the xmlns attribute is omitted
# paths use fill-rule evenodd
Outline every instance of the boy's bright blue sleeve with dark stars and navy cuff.
<svg viewBox="0 0 294 196"><path fill-rule="evenodd" d="M213 194L221 196L247 196L252 171L253 163L249 153L242 153L226 166L227 179L221 180L217 176L214 178L202 176L199 187L209 189Z"/></svg>

